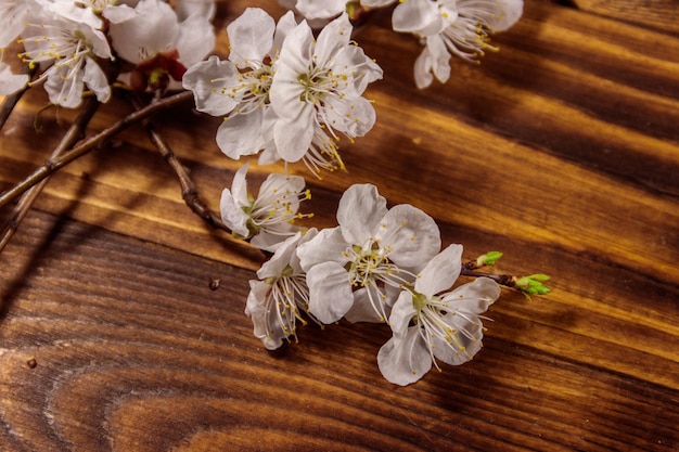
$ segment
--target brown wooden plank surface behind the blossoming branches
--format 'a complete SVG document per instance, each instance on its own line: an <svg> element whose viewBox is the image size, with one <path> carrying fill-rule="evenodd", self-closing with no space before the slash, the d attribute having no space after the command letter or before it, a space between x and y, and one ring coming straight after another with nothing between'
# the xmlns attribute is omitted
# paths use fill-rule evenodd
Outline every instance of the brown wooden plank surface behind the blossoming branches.
<svg viewBox="0 0 679 452"><path fill-rule="evenodd" d="M230 0L220 27L246 5L282 13ZM379 119L343 141L347 172L307 178L312 224L372 182L465 257L553 276L548 297L503 290L473 362L406 388L377 370L384 325L309 326L267 352L243 314L258 254L190 212L140 127L66 167L0 255L0 450L678 450L678 10L528 0L499 53L424 91L389 12L357 35L385 72ZM37 134L33 91L1 131L0 189L74 117L46 111ZM214 143L219 119L187 105L156 122L217 209L240 165Z"/></svg>

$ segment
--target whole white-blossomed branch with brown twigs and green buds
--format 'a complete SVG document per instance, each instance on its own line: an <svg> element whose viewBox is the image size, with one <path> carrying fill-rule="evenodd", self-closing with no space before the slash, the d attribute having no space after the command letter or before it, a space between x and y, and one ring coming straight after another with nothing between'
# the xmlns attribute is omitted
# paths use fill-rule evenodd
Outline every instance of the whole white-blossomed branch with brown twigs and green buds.
<svg viewBox="0 0 679 452"><path fill-rule="evenodd" d="M245 313L267 349L296 340L298 324L345 319L388 325L393 337L380 349L377 364L397 385L440 369L438 362L471 360L482 347L484 312L499 298L500 285L546 295L549 276L485 272L500 258L497 251L463 262L461 245L441 250L432 217L408 204L387 207L370 181L344 192L336 227L300 227L312 217L299 211L311 193L292 168L302 166L319 181L324 171L345 170L343 137L353 142L375 124L375 109L363 94L383 72L353 40L353 23L374 9L393 8L394 30L413 34L423 46L413 75L417 86L426 88L434 79L449 79L453 55L477 62L497 50L490 36L521 17L522 0L281 3L290 11L278 22L256 8L231 22L229 55L221 60L212 54L209 1L0 0L5 24L0 48L21 48L25 67L13 73L16 64L5 62L3 50L0 126L22 93L39 85L59 107L81 108L89 98L44 165L0 194L0 208L23 195L4 225L0 250L52 173L142 121L189 207L266 256L249 282ZM134 112L78 142L97 105L118 91ZM255 196L243 164L221 193L219 212L210 210L152 121L154 113L191 99L197 112L223 118L216 144L227 157L282 162L283 172L269 175ZM460 275L473 281L453 287Z"/></svg>

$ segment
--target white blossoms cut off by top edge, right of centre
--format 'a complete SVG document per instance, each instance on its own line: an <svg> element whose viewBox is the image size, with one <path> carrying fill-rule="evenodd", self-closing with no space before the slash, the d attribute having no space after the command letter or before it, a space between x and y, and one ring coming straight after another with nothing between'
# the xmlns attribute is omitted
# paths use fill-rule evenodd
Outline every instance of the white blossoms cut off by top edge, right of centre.
<svg viewBox="0 0 679 452"><path fill-rule="evenodd" d="M281 0L309 20L322 21L348 8L384 8L397 3L392 16L396 31L411 33L424 50L415 61L418 88L450 78L451 55L477 61L488 50L490 35L512 27L523 14L523 0Z"/></svg>

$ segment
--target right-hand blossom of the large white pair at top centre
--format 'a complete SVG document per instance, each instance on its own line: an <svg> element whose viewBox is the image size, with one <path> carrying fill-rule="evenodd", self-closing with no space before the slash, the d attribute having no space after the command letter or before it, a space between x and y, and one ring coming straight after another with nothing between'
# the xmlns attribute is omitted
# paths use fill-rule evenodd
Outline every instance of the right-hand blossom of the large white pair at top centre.
<svg viewBox="0 0 679 452"><path fill-rule="evenodd" d="M306 21L287 34L269 91L280 117L273 128L276 148L285 162L303 159L319 128L333 139L337 132L354 139L372 128L375 111L361 95L382 69L350 39L346 13L317 39Z"/></svg>

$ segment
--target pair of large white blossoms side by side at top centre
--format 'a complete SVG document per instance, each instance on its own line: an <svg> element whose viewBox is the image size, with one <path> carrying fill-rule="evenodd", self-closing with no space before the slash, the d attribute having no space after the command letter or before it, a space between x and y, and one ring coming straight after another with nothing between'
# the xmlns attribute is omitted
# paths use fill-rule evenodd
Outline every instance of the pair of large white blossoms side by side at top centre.
<svg viewBox="0 0 679 452"><path fill-rule="evenodd" d="M351 28L342 14L315 39L292 12L277 25L255 8L233 21L228 60L213 56L183 77L198 111L227 116L219 148L235 159L261 151L260 164L343 169L337 133L354 139L372 128L375 112L362 93L382 78L380 66L351 43Z"/></svg>

